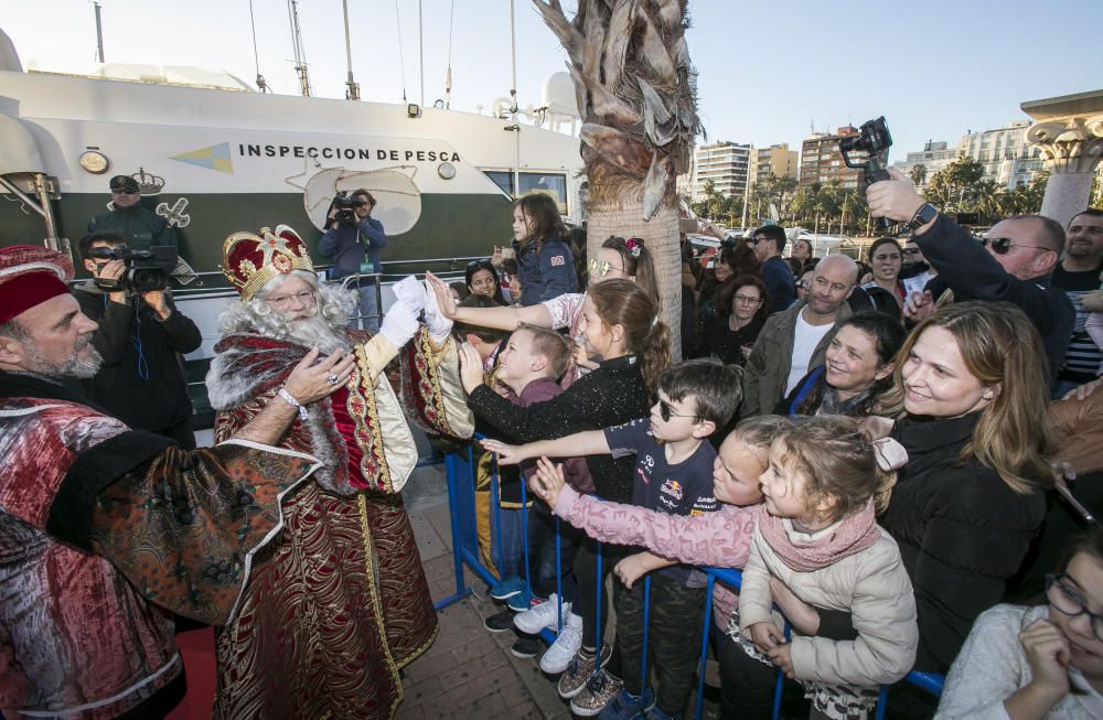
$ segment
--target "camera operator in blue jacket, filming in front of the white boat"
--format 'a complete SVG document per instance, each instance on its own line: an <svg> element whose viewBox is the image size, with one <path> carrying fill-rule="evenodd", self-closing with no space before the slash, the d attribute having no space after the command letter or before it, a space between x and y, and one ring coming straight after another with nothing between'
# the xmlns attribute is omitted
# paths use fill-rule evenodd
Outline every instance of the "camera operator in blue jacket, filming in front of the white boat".
<svg viewBox="0 0 1103 720"><path fill-rule="evenodd" d="M372 217L373 209L375 198L363 187L349 196L339 193L333 200L325 235L318 244L320 254L333 257L331 279L383 272L379 248L387 247L387 235L383 232L383 223ZM377 282L378 278L362 278L356 283L360 288L361 327L372 333L379 331ZM350 323L351 326L355 324L355 320Z"/></svg>

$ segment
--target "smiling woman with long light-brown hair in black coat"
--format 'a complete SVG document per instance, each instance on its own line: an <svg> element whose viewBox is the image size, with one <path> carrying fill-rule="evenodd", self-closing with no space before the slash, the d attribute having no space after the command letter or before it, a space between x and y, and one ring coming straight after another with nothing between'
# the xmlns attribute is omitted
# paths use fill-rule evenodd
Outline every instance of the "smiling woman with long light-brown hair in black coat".
<svg viewBox="0 0 1103 720"><path fill-rule="evenodd" d="M900 351L890 437L908 452L880 518L915 589L915 668L944 673L983 611L1003 600L1051 487L1041 338L1008 303L962 302Z"/></svg>

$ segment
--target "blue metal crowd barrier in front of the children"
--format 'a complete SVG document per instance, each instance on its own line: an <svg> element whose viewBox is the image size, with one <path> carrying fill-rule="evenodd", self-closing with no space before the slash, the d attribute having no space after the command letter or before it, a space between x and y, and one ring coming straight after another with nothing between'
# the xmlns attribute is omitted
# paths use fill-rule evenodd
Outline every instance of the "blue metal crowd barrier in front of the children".
<svg viewBox="0 0 1103 720"><path fill-rule="evenodd" d="M475 436L475 440L481 439L482 436ZM472 443L473 445L473 443ZM479 538L478 538L478 524L475 518L475 468L478 464L478 456L481 451L474 451L472 445L469 445L465 454L449 454L445 456L445 468L446 476L448 483L448 503L449 503L449 514L451 518L451 530L452 530L452 563L453 571L456 573L456 592L439 600L436 603L438 611L458 602L468 594L471 593L471 587L467 584L463 574L463 568L467 566L476 577L479 577L488 585L493 585L499 581L489 568L486 568L479 559ZM501 520L501 508L499 507L499 475L497 475L497 460L496 458L491 463L491 483L490 483L490 513L491 519L491 546L494 551L494 560L496 561L499 572L501 573L501 568L503 567L502 558L502 520ZM525 588L526 597L531 595L532 589L532 578L529 578L528 572L528 508L527 508L527 490L525 483L521 483L521 506L522 506L522 550L524 558L524 572L525 572ZM563 572L560 563L560 544L559 544L559 517L553 514L555 518L555 552L556 552L556 594L559 598L559 616L558 626L563 627ZM601 544L598 542L598 567L597 576L602 578L601 572ZM709 631L711 628L710 623L713 622L713 590L717 581L724 582L731 588L738 590L742 584L742 572L735 568L713 568L713 567L700 567L706 576L708 577L707 587L707 600L705 603L705 621L704 630L702 632L700 642L700 656L697 666L697 700L695 708L695 717L697 720L702 720L704 714L704 698L705 698L705 665L708 655L708 643L709 643ZM599 582L597 588L598 593L598 616L595 619L598 627L597 634L597 646L600 648L602 645L601 638L601 593L603 592L604 582ZM643 605L643 662L641 663L643 667L642 671L642 685L641 687L647 687L647 634L649 634L649 620L650 620L650 600L651 600L651 577L650 573L644 576L644 605ZM548 628L544 628L539 633L544 642L549 645L555 642L556 634ZM785 638L790 637L790 625L785 622ZM942 686L945 678L942 675L936 675L932 673L919 673L912 670L909 673L901 683L908 683L914 687L918 687L935 697L942 695ZM781 699L782 690L785 683L784 673L780 669L778 670L778 680L774 688L774 700L773 700L773 718L778 720L781 714ZM875 720L884 720L886 706L888 705L888 691L891 686L881 686L880 695L877 700L877 709L875 712Z"/></svg>

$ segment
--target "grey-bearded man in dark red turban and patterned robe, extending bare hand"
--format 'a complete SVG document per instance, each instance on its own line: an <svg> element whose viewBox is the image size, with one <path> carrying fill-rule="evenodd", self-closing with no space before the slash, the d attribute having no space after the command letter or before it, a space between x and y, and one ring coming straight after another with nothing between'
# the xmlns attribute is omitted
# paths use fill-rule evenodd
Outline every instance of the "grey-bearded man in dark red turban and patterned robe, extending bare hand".
<svg viewBox="0 0 1103 720"><path fill-rule="evenodd" d="M72 278L58 252L0 250L0 714L161 718L184 691L173 613L233 621L283 495L319 464L272 447L286 398L191 452L92 406L64 384L100 364ZM318 361L287 375L296 405L353 375Z"/></svg>

